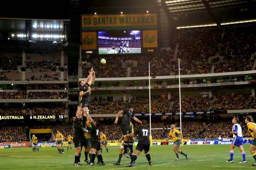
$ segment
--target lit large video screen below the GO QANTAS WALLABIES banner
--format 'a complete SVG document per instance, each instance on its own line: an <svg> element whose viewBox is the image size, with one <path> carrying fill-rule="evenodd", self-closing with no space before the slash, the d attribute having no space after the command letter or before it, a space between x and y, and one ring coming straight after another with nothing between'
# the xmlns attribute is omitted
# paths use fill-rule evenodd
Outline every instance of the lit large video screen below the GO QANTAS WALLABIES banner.
<svg viewBox="0 0 256 170"><path fill-rule="evenodd" d="M100 31L99 54L141 53L140 31Z"/></svg>

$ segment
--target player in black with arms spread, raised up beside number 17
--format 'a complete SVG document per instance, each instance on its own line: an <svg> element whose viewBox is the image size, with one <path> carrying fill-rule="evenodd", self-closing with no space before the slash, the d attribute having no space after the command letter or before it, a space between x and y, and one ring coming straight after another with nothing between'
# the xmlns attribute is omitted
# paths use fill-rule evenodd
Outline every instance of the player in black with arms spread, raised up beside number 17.
<svg viewBox="0 0 256 170"><path fill-rule="evenodd" d="M121 129L122 129L123 135L125 136L124 137L124 155L127 158L130 158L130 156L127 154L128 140L129 140L130 155L133 155L132 137L129 138L128 136L126 136L127 134L132 133L132 128L131 128L131 125L130 125L131 118L141 124L141 121L138 118L136 118L134 116L134 114L132 113L133 109L134 109L134 106L132 104L130 104L130 105L128 105L128 108L124 108L123 110L118 111L116 120L114 122L115 124L117 124L119 116L121 114L123 114L122 123L121 123Z"/></svg>

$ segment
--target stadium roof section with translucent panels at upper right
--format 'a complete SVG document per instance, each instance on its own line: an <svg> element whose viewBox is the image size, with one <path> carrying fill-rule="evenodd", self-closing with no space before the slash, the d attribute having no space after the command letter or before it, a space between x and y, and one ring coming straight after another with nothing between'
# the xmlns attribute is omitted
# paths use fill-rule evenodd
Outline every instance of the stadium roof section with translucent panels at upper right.
<svg viewBox="0 0 256 170"><path fill-rule="evenodd" d="M256 0L156 0L175 27L256 19Z"/></svg>

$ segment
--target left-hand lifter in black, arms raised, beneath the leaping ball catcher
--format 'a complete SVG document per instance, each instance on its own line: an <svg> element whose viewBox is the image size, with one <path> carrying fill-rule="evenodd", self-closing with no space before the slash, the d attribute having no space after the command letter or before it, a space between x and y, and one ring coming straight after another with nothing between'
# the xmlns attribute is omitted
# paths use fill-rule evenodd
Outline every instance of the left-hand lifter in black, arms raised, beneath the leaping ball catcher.
<svg viewBox="0 0 256 170"><path fill-rule="evenodd" d="M82 105L82 104L81 104ZM81 114L81 105L78 106L77 108L77 112L76 112L76 116L71 118L71 122L73 122L73 128L74 128L74 138L73 138L73 142L75 144L75 163L74 166L79 166L82 165L79 160L81 154L81 144L82 144L82 137L83 137L83 130L82 130L82 118L83 118L83 114Z"/></svg>

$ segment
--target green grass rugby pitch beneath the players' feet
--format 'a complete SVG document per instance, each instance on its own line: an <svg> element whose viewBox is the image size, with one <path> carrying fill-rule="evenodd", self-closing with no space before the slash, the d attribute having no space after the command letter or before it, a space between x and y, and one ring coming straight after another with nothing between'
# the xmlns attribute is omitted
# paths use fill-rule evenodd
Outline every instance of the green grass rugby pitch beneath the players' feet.
<svg viewBox="0 0 256 170"><path fill-rule="evenodd" d="M133 170L241 170L252 167L254 163L249 147L244 145L247 163L239 163L242 161L242 155L238 148L235 148L234 161L235 163L225 163L229 160L229 146L230 145L185 145L181 146L184 153L189 154L187 161L185 156L180 155L180 161L174 161L176 156L173 152L173 146L152 146L150 147L150 155L153 163L152 167L148 166L148 161L144 153L141 153L136 160L137 166L130 167ZM84 165L74 167L75 148L66 151L63 155L59 155L56 147L39 148L39 153L32 153L32 148L12 148L0 149L0 170L19 169L19 170L70 170L70 169L93 169L93 170L124 170L128 169L125 166L130 163L130 159L125 156L122 157L121 166L113 165L117 162L119 148L109 148L109 154L103 148L103 160L105 166L95 165L88 167L85 165L84 150L82 151L81 163Z"/></svg>

